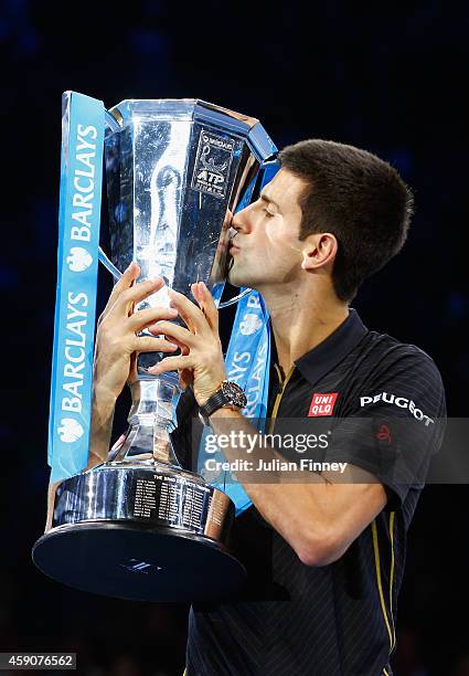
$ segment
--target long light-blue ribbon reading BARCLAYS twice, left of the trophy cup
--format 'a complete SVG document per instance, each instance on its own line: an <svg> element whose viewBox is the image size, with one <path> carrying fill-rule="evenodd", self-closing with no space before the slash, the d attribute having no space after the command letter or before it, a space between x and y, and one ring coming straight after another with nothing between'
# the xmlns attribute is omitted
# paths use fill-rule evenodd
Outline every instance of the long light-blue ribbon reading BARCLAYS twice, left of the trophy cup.
<svg viewBox="0 0 469 676"><path fill-rule="evenodd" d="M77 474L88 461L104 131L103 102L63 94L51 482Z"/></svg>

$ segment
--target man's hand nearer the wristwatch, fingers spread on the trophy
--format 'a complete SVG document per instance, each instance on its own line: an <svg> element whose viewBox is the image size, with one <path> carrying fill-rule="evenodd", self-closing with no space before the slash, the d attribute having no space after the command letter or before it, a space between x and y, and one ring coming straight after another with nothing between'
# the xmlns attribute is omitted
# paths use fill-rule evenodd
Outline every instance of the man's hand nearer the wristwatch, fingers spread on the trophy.
<svg viewBox="0 0 469 676"><path fill-rule="evenodd" d="M170 321L148 327L154 335L168 336L182 353L166 357L148 371L159 374L178 370L183 384L190 382L192 376L195 401L201 406L226 379L226 371L218 335L218 310L212 294L203 282L192 284L191 292L199 307L183 294L168 289L172 305L188 328Z"/></svg>

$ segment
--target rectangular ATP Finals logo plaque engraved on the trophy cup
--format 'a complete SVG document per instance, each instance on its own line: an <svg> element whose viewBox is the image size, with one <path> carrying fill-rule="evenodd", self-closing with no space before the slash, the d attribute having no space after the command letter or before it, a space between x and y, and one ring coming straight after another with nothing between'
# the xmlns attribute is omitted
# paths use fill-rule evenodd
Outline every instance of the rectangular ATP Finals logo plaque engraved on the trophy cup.
<svg viewBox="0 0 469 676"><path fill-rule="evenodd" d="M234 141L231 138L202 129L191 188L224 199L233 150Z"/></svg>

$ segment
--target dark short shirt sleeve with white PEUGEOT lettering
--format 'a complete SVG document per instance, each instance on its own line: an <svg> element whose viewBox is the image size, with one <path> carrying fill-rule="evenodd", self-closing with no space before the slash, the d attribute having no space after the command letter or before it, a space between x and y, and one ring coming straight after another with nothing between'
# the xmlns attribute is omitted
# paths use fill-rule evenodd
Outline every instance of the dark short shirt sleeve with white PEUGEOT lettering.
<svg viewBox="0 0 469 676"><path fill-rule="evenodd" d="M328 462L347 462L373 474L401 506L411 486L422 487L443 443L445 391L434 361L413 346L362 385L335 419Z"/></svg>

